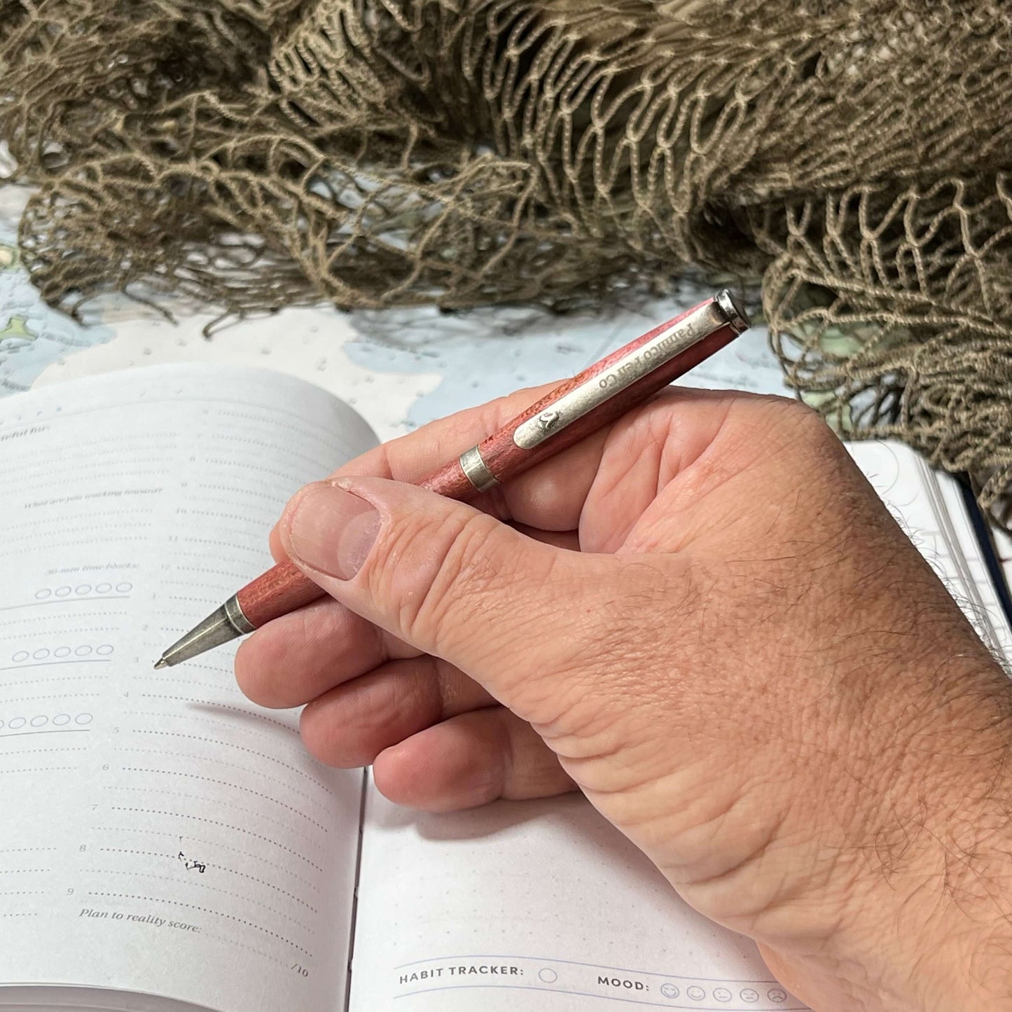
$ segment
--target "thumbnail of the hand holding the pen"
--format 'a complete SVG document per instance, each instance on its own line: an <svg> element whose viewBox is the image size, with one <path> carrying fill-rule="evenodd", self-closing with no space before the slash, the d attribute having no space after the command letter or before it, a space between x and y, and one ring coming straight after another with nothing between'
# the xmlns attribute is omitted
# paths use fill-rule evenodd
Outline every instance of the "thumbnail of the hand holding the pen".
<svg viewBox="0 0 1012 1012"><path fill-rule="evenodd" d="M371 503L324 482L311 485L296 504L290 549L307 566L350 580L361 568L380 533Z"/></svg>

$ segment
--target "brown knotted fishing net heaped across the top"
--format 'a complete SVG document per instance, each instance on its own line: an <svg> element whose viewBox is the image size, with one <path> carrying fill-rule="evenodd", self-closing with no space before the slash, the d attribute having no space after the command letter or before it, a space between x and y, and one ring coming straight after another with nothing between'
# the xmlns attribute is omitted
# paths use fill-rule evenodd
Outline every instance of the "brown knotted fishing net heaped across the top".
<svg viewBox="0 0 1012 1012"><path fill-rule="evenodd" d="M566 310L688 265L761 278L810 403L999 512L1010 85L997 0L0 0L51 303Z"/></svg>

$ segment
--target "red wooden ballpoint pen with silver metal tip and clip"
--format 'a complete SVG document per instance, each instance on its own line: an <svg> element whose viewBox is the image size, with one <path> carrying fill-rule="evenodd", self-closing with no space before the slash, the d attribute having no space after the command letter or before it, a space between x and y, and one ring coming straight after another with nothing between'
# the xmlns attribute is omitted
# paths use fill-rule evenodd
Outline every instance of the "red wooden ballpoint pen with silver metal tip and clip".
<svg viewBox="0 0 1012 1012"><path fill-rule="evenodd" d="M566 381L415 484L449 499L468 500L487 492L613 422L748 327L745 313L724 289ZM169 647L155 667L196 657L323 594L293 563L279 563Z"/></svg>

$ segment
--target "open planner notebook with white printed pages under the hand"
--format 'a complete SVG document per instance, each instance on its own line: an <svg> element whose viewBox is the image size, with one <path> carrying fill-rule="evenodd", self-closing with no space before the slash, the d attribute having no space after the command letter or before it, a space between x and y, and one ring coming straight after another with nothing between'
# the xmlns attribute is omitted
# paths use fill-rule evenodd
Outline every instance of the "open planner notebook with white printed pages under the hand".
<svg viewBox="0 0 1012 1012"><path fill-rule="evenodd" d="M230 650L152 670L269 565L287 497L373 443L257 370L0 404L0 1007L800 1008L579 797L418 816L308 757ZM954 484L853 452L1004 650Z"/></svg>

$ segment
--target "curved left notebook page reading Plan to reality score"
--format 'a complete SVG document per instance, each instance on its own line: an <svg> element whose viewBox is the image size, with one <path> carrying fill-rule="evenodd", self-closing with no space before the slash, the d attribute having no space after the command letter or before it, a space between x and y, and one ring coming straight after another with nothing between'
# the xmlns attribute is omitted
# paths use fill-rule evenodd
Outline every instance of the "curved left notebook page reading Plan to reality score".
<svg viewBox="0 0 1012 1012"><path fill-rule="evenodd" d="M361 774L245 700L234 650L152 664L269 565L290 493L373 443L259 370L0 404L0 984L344 1007Z"/></svg>

